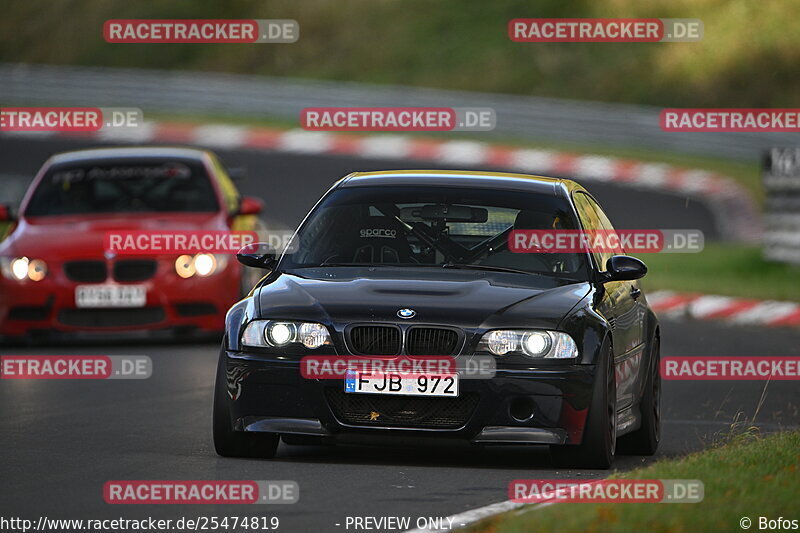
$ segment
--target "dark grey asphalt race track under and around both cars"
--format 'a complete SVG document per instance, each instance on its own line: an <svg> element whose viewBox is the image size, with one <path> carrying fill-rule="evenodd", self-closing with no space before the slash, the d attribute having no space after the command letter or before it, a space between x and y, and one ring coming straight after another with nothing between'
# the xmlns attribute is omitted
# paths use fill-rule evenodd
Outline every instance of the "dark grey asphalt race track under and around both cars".
<svg viewBox="0 0 800 533"><path fill-rule="evenodd" d="M0 138L0 176L32 176L51 153L79 141ZM266 218L287 226L338 177L353 170L404 168L402 161L220 151L245 163L243 192L260 196ZM418 167L419 165L414 165ZM2 178L0 178L2 179ZM5 189L0 182L0 194ZM685 199L592 185L621 227L699 228L710 213ZM664 320L664 356L788 356L800 331ZM114 344L5 348L3 354L149 355L147 380L0 381L0 515L49 518L160 518L266 515L279 531L346 531L347 516L444 517L507 499L520 478L604 477L556 471L545 448L387 448L281 445L274 460L223 459L211 442L216 344ZM765 383L665 382L663 441L656 457L697 450L726 431L738 412L752 416ZM756 423L764 431L800 425L800 389L770 382ZM619 457L630 469L652 461ZM112 506L109 480L294 480L300 501L271 506ZM339 526L337 526L339 524ZM352 530L352 528L351 528Z"/></svg>

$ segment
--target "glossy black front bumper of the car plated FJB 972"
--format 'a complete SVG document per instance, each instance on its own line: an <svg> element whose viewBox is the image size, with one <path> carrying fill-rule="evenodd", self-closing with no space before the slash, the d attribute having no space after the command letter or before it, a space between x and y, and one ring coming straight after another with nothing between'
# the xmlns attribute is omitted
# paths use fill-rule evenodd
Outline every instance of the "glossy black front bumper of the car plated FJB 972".
<svg viewBox="0 0 800 533"><path fill-rule="evenodd" d="M342 380L303 378L297 358L231 351L224 357L235 430L336 443L579 444L595 372L578 364L498 368L492 379L462 379L459 405L450 409L439 398L345 394ZM343 408L341 400L353 397L359 401ZM428 408L438 414L426 417ZM359 409L377 416L359 418Z"/></svg>

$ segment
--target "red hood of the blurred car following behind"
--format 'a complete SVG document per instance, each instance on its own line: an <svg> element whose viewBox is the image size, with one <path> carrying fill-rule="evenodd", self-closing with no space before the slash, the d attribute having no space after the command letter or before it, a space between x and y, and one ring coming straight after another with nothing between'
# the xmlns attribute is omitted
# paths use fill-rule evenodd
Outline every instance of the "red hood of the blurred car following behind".
<svg viewBox="0 0 800 533"><path fill-rule="evenodd" d="M224 231L220 213L125 214L26 218L0 243L2 256L26 256L45 261L103 257L109 231Z"/></svg>

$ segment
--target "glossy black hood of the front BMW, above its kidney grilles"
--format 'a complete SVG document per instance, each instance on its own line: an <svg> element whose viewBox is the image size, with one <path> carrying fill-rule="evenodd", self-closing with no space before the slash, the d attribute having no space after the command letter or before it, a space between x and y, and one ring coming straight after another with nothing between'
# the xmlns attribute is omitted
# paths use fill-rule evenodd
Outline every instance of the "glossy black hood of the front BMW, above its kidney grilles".
<svg viewBox="0 0 800 533"><path fill-rule="evenodd" d="M257 298L261 317L271 319L556 327L590 288L587 282L525 274L333 267L279 274ZM403 308L416 316L398 318Z"/></svg>

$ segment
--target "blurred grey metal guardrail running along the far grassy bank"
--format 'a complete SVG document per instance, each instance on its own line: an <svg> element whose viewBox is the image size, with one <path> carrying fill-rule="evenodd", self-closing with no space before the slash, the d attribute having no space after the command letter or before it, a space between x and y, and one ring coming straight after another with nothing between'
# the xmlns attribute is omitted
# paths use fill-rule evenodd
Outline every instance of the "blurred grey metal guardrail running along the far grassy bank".
<svg viewBox="0 0 800 533"><path fill-rule="evenodd" d="M496 136L617 145L755 160L791 133L667 133L653 107L241 74L0 63L0 103L138 107L272 116L305 107L491 107ZM482 135L486 135L485 133Z"/></svg>

